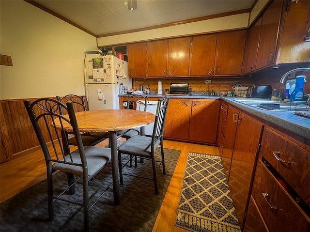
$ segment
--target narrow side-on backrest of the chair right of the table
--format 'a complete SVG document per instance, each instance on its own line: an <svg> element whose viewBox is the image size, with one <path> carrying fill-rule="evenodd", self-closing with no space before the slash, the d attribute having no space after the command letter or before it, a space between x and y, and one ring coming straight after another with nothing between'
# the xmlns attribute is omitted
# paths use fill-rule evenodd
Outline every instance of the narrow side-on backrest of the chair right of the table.
<svg viewBox="0 0 310 232"><path fill-rule="evenodd" d="M163 137L168 104L169 104L168 97L158 99L155 114L155 122L153 127L153 134L152 134L152 149L156 148L156 146L160 143L160 139L162 139Z"/></svg>

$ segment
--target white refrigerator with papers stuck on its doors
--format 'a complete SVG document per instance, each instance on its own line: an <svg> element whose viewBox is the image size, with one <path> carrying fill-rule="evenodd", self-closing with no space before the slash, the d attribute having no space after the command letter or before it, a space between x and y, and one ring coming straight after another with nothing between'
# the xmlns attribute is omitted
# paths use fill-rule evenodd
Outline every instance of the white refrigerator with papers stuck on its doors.
<svg viewBox="0 0 310 232"><path fill-rule="evenodd" d="M90 110L119 109L120 84L132 89L132 79L128 77L128 63L113 55L86 56L84 77Z"/></svg>

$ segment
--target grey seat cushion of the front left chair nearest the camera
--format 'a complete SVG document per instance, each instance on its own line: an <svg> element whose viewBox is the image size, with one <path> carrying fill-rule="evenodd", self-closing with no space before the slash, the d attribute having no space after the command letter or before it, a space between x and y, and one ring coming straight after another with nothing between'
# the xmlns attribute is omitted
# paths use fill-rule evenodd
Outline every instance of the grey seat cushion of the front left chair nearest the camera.
<svg viewBox="0 0 310 232"><path fill-rule="evenodd" d="M106 147L84 146L85 156L87 160L88 176L93 177L111 160L111 149ZM74 163L81 164L80 155L78 150L71 153ZM63 158L61 159L63 161ZM70 156L66 155L66 160L71 162ZM82 174L82 167L72 164L55 163L54 170L61 170L74 174Z"/></svg>

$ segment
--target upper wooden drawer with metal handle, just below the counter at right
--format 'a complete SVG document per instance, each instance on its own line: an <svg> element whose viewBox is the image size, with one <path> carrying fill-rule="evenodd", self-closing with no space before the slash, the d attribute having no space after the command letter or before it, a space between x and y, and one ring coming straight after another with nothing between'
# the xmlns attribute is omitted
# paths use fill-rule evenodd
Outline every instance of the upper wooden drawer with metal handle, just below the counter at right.
<svg viewBox="0 0 310 232"><path fill-rule="evenodd" d="M310 152L266 128L261 154L310 205Z"/></svg>

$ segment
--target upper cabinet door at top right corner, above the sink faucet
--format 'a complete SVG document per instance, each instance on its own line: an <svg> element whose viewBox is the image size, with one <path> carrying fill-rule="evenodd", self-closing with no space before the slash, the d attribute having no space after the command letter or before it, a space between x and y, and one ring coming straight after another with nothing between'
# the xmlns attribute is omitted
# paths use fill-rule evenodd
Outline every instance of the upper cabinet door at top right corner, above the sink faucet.
<svg viewBox="0 0 310 232"><path fill-rule="evenodd" d="M305 42L309 30L310 1L286 1L278 63L310 61L310 42ZM292 36L294 34L294 36Z"/></svg>

